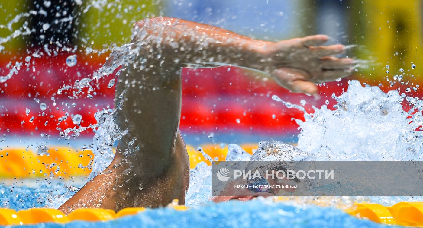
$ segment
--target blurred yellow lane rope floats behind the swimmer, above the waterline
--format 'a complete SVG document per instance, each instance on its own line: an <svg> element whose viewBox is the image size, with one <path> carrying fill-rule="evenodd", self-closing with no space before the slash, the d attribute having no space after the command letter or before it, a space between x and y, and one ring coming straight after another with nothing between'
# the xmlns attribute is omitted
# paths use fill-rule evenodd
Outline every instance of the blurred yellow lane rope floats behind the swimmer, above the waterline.
<svg viewBox="0 0 423 228"><path fill-rule="evenodd" d="M242 149L252 154L257 144L241 144ZM198 147L187 145L190 157L190 168L195 168L199 162L210 165ZM228 147L204 144L203 151L215 160L225 160ZM37 155L26 148L7 148L0 150L0 178L35 178L50 174L62 178L88 176L90 164L94 155L90 150L78 151L71 147L50 147L46 155Z"/></svg>

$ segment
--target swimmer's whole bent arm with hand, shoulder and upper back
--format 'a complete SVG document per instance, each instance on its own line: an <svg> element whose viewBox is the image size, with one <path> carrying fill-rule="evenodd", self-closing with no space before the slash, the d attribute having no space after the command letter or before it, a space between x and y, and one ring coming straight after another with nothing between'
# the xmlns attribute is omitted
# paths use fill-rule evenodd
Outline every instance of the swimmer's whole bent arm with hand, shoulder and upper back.
<svg viewBox="0 0 423 228"><path fill-rule="evenodd" d="M60 210L119 211L184 204L190 163L179 131L181 69L194 64L233 65L262 71L292 92L316 94L316 83L348 76L354 60L337 58L341 44L321 46L326 35L261 41L207 24L157 17L135 23L129 60L116 86L116 124L128 133L101 174ZM119 102L123 100L123 102Z"/></svg>

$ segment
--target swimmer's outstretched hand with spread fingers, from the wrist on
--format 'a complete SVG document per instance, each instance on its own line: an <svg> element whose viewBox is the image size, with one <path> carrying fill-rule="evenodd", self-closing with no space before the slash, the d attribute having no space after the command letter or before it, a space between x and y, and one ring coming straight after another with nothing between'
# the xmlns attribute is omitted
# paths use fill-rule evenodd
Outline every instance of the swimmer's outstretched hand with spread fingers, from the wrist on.
<svg viewBox="0 0 423 228"><path fill-rule="evenodd" d="M350 58L337 58L345 46L320 46L328 40L326 35L312 35L279 42L268 42L261 54L272 78L292 92L316 94L316 83L335 81L349 76L355 62Z"/></svg>

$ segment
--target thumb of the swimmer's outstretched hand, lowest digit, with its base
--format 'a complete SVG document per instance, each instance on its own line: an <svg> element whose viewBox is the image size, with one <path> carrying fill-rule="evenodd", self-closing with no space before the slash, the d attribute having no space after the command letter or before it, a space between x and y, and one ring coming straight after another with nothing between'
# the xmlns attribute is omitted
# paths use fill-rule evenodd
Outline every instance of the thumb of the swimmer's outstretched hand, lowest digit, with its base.
<svg viewBox="0 0 423 228"><path fill-rule="evenodd" d="M291 92L316 94L317 87L308 81L308 73L294 68L279 68L273 71L276 82Z"/></svg>

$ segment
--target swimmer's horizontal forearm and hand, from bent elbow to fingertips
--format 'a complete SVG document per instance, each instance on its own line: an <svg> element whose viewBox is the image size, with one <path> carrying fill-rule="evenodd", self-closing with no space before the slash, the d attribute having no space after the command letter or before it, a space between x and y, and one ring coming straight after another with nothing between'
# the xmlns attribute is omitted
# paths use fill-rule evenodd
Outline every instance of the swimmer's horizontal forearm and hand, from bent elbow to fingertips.
<svg viewBox="0 0 423 228"><path fill-rule="evenodd" d="M245 37L207 24L174 18L151 18L135 24L133 42L150 47L151 57L171 62L206 65L217 62L263 71L293 92L316 93L316 83L348 76L354 61L331 55L343 45L319 46L325 35L270 42ZM169 67L169 65L167 65Z"/></svg>

